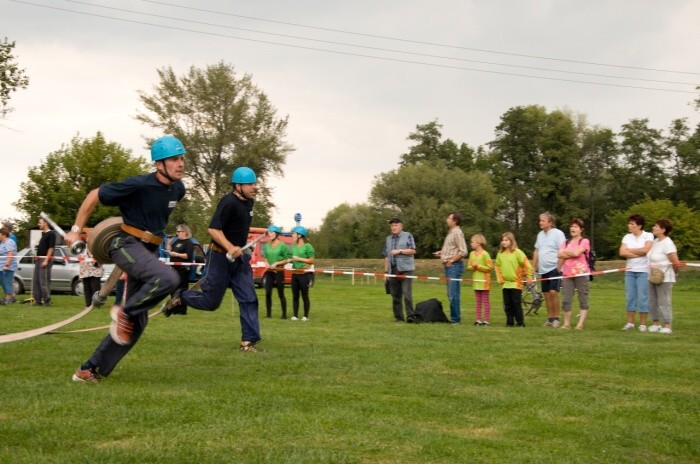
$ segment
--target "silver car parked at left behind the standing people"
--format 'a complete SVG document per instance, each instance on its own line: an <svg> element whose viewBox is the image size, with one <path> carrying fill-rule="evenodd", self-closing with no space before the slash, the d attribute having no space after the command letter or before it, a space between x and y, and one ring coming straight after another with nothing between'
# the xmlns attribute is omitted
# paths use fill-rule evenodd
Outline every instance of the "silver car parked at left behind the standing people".
<svg viewBox="0 0 700 464"><path fill-rule="evenodd" d="M34 256L36 250L33 248L23 248L17 253L19 267L15 272L15 293L21 295L23 293L31 293L32 277L34 275ZM109 274L114 269L114 264L104 264L104 276L102 283L104 284ZM70 248L66 246L57 246L54 248L53 267L51 268L51 292L52 293L71 293L73 295L82 295L83 282L80 280L80 262L78 257L71 253Z"/></svg>

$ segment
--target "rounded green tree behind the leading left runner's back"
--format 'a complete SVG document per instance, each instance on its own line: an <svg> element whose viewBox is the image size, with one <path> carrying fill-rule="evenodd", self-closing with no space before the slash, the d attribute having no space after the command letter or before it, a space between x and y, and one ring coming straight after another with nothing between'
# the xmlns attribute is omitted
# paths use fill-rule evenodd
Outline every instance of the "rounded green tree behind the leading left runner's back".
<svg viewBox="0 0 700 464"><path fill-rule="evenodd" d="M148 171L149 165L143 158L133 157L130 150L117 143L107 142L101 132L89 139L76 135L70 144L29 169L28 180L20 185L20 199L13 205L28 216L31 225L42 211L58 224L72 224L90 190ZM100 204L88 225L117 215L118 209Z"/></svg>

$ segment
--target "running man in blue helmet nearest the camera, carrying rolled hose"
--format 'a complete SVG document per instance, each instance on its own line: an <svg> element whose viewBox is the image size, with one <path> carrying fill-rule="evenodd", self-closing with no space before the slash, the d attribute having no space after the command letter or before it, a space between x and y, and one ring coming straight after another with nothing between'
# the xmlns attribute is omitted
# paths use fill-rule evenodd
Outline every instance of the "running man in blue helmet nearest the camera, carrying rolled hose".
<svg viewBox="0 0 700 464"><path fill-rule="evenodd" d="M118 206L122 231L108 245L109 257L125 274L127 294L122 305L111 310L112 324L92 356L73 374L73 380L95 382L108 376L133 348L146 328L148 310L171 294L180 277L158 259L158 246L170 213L185 196L185 147L173 136L157 139L151 145L155 172L103 184L88 193L66 242L80 239L98 203Z"/></svg>

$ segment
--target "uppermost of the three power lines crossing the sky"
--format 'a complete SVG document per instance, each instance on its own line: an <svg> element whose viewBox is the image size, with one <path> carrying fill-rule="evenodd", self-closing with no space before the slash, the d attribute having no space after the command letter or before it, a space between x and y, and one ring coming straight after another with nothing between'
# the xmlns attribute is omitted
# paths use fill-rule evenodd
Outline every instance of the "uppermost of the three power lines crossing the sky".
<svg viewBox="0 0 700 464"><path fill-rule="evenodd" d="M643 68L643 67L638 67L638 66L625 66L625 65L609 64L609 63L596 63L596 62L592 62L592 61L580 61L580 60L572 60L572 59L565 59L565 58L554 58L554 57L547 57L547 56L527 55L527 54L523 54L523 53L504 52L504 51L499 51L499 50L488 50L488 49L483 49L483 48L462 47L462 46L458 46L458 45L448 45L448 44L440 44L440 43L434 43L434 42L423 42L423 41L419 41L419 40L403 39L403 38L399 38L399 37L389 37L389 36L383 36L383 35L365 34L362 32L345 31L342 29L332 29L332 28L327 28L327 27L309 26L306 24L298 24L298 23L291 23L291 22L285 22L285 21L276 21L276 20L272 20L272 19L258 18L255 16L237 15L237 14L233 14L233 13L226 13L223 11L206 10L204 8L194 8L194 7L189 7L189 6L176 5L173 3L160 2L160 1L156 1L156 0L140 0L140 1L145 2L145 3L153 3L153 4L157 4L157 5L171 6L174 8L183 8L183 9L192 10L192 11L201 11L203 13L214 13L214 14L232 16L235 18L251 19L254 21L264 21L264 22L269 22L269 23L274 23L274 24L283 24L286 26L302 27L302 28L306 28L306 29L315 29L315 30L327 31L327 32L336 32L336 33L340 33L340 34L356 35L356 36L369 37L369 38L374 38L374 39L393 40L396 42L405 42L405 43L412 43L412 44L417 44L417 45L430 45L433 47L452 48L452 49L456 49L456 50L468 50L468 51L482 52L482 53L493 53L493 54L498 54L498 55L517 56L517 57L521 57L521 58L534 58L534 59L538 59L538 60L560 61L560 62L564 62L564 63L586 64L586 65L604 66L604 67L610 67L610 68L635 69L635 70L640 70L640 71L655 71L655 72L667 72L667 73L675 73L675 74L700 75L700 72L677 71L677 70L672 70L672 69L658 69L658 68Z"/></svg>

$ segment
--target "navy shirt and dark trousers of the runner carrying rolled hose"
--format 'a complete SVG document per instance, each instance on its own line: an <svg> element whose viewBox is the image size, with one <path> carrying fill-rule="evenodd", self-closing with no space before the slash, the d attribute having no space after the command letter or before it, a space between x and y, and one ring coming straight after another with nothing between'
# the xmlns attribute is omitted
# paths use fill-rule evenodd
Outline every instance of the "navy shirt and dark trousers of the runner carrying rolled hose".
<svg viewBox="0 0 700 464"><path fill-rule="evenodd" d="M125 224L158 237L162 237L170 213L184 196L185 186L181 181L162 184L155 173L104 184L99 189L100 203L118 206ZM158 245L127 233L121 232L112 240L109 256L128 275L123 309L134 328L128 345L117 344L107 334L81 366L105 377L141 337L148 323L148 310L175 291L180 282L177 272L158 259Z"/></svg>

